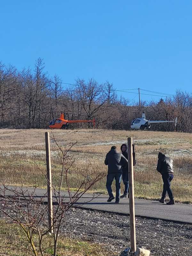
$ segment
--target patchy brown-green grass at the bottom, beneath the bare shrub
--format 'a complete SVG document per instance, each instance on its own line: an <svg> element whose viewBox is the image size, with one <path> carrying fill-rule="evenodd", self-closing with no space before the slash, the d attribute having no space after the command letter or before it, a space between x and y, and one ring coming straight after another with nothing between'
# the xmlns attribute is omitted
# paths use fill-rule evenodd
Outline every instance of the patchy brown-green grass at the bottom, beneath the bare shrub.
<svg viewBox="0 0 192 256"><path fill-rule="evenodd" d="M34 240L36 243L36 240ZM50 247L45 250L44 255L52 255L52 237L46 236L44 240L44 247ZM0 228L0 255L18 255L29 256L28 243L19 226L1 224ZM99 244L94 244L86 241L69 239L65 236L60 236L58 241L57 255L62 256L114 256L113 252L107 251Z"/></svg>

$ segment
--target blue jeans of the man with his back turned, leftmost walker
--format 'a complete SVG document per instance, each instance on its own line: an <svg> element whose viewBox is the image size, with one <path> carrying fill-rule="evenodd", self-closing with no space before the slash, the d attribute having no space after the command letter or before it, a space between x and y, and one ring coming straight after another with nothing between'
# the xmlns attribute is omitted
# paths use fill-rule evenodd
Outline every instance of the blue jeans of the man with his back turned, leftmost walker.
<svg viewBox="0 0 192 256"><path fill-rule="evenodd" d="M107 187L107 191L108 191L108 194L109 194L110 197L113 196L113 192L112 192L112 189L111 189L111 184L112 184L112 182L113 182L113 180L115 178L116 199L120 198L120 193L121 193L121 189L120 189L121 176L122 176L121 173L108 173L106 187Z"/></svg>

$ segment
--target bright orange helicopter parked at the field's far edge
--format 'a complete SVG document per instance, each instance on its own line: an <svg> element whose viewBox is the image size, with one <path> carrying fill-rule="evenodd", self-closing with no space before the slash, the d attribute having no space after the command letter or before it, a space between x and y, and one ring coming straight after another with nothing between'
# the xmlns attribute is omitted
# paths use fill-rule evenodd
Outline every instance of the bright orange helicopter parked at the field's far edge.
<svg viewBox="0 0 192 256"><path fill-rule="evenodd" d="M64 113L72 113L72 112L64 112ZM93 123L93 127L95 127L95 118L93 120L65 120L64 113L60 113L60 118L53 119L49 128L51 129L68 129L68 125L71 123ZM78 114L78 113L74 113Z"/></svg>

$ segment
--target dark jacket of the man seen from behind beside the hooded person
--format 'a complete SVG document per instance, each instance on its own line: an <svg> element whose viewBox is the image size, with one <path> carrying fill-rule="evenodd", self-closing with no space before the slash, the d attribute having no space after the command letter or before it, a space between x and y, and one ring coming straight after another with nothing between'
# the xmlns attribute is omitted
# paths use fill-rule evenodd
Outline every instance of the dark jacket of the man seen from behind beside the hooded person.
<svg viewBox="0 0 192 256"><path fill-rule="evenodd" d="M105 158L105 164L108 165L108 174L122 173L122 166L126 163L127 159L121 153L117 153L116 149L111 149Z"/></svg>

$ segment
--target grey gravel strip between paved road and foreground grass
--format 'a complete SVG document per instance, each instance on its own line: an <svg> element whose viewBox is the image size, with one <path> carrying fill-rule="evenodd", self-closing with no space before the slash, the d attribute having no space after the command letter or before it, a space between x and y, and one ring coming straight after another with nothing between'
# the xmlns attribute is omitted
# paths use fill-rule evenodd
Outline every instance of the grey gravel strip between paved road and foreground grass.
<svg viewBox="0 0 192 256"><path fill-rule="evenodd" d="M151 256L192 255L192 225L173 221L136 217L137 246L151 251ZM61 232L102 244L119 255L130 246L129 216L73 208L68 212Z"/></svg>

